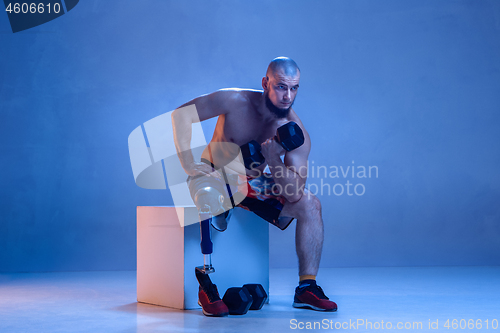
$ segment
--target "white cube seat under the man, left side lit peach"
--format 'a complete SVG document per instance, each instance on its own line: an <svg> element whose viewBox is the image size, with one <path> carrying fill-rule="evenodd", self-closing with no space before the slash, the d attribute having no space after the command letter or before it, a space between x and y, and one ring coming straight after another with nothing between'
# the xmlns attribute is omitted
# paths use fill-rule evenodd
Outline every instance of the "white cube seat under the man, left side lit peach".
<svg viewBox="0 0 500 333"><path fill-rule="evenodd" d="M177 210L177 211L176 211ZM194 268L203 264L195 207L137 207L137 301L176 309L198 306ZM210 274L222 298L229 287L260 283L269 293L269 224L241 208L226 231L212 229Z"/></svg>

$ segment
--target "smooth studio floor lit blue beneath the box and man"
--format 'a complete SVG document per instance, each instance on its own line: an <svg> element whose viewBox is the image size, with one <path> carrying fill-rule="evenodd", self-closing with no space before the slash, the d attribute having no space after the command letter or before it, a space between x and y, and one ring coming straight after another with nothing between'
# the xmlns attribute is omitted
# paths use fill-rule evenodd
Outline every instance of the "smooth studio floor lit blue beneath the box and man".
<svg viewBox="0 0 500 333"><path fill-rule="evenodd" d="M500 332L500 267L323 268L333 313L294 309L295 270L270 274L270 303L226 318L137 303L135 271L0 274L0 332Z"/></svg>

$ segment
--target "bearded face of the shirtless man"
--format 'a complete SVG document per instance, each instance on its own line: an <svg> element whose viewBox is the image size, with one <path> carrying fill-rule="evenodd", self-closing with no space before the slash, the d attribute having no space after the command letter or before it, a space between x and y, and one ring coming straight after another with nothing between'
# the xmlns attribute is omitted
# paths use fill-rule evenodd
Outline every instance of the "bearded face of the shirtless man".
<svg viewBox="0 0 500 333"><path fill-rule="evenodd" d="M288 115L299 89L299 81L299 71L295 75L286 75L282 69L264 78L263 88L266 105L269 111L278 118L284 118Z"/></svg>

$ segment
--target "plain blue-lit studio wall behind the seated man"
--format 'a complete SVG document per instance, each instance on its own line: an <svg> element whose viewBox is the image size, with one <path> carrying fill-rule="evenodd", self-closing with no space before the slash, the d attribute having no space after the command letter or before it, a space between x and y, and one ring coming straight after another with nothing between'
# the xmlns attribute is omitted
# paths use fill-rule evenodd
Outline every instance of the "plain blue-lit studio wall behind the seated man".
<svg viewBox="0 0 500 333"><path fill-rule="evenodd" d="M310 162L339 168L309 184L344 188L318 194L323 267L500 264L499 1L85 0L16 34L0 14L0 41L1 272L135 269L136 206L172 200L135 185L129 133L280 55Z"/></svg>

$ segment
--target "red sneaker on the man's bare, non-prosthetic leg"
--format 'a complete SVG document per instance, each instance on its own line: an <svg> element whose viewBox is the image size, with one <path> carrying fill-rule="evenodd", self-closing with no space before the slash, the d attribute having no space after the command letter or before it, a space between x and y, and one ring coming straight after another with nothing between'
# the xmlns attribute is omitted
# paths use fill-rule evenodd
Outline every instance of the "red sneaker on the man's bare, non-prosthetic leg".
<svg viewBox="0 0 500 333"><path fill-rule="evenodd" d="M337 311L337 304L326 297L323 289L310 280L295 288L294 308L308 308L316 311Z"/></svg>

